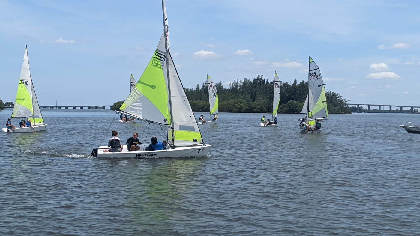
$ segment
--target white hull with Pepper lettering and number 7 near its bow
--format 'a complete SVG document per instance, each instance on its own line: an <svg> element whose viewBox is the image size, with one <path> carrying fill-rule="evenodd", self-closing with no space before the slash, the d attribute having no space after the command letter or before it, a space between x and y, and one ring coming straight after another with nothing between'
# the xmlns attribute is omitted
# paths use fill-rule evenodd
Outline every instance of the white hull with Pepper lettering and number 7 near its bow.
<svg viewBox="0 0 420 236"><path fill-rule="evenodd" d="M147 145L147 146L146 146ZM140 150L144 150L148 144L142 144ZM129 152L127 145L123 145L122 152L104 152L107 146L98 147L97 157L100 158L165 158L165 157L204 157L210 151L210 144L200 144L189 147L167 147L165 150L157 151L135 151Z"/></svg>

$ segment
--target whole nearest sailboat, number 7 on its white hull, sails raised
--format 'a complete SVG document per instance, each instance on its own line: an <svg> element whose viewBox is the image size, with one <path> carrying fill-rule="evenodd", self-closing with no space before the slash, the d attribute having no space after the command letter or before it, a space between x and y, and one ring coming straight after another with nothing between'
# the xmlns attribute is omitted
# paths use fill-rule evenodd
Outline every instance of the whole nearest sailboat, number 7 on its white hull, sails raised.
<svg viewBox="0 0 420 236"><path fill-rule="evenodd" d="M199 130L191 105L184 92L169 47L168 17L162 0L163 34L149 64L136 87L116 113L129 115L150 125L160 126L166 149L147 151L142 144L139 151L104 152L107 146L92 150L91 155L110 158L202 157L210 151ZM156 127L155 127L156 128ZM155 129L157 131L158 129ZM147 137L150 138L150 137Z"/></svg>

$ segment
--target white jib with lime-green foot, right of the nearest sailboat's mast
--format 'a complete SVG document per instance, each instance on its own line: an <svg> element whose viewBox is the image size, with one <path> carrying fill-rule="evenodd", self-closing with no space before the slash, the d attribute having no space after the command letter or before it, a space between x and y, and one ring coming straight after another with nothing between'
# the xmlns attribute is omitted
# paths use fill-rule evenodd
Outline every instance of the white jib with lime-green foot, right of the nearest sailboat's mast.
<svg viewBox="0 0 420 236"><path fill-rule="evenodd" d="M189 105L184 87L179 79L171 53L168 52L168 68L171 84L172 118L176 145L202 144L202 136L194 113ZM168 129L168 139L171 141L172 131Z"/></svg>

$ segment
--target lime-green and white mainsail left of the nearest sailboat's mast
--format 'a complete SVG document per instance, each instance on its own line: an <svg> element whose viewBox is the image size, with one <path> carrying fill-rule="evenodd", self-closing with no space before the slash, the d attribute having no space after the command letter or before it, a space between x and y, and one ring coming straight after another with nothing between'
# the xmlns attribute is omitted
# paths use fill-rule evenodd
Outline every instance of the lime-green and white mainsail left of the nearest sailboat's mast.
<svg viewBox="0 0 420 236"><path fill-rule="evenodd" d="M162 34L152 59L119 110L147 121L170 125L167 64Z"/></svg>

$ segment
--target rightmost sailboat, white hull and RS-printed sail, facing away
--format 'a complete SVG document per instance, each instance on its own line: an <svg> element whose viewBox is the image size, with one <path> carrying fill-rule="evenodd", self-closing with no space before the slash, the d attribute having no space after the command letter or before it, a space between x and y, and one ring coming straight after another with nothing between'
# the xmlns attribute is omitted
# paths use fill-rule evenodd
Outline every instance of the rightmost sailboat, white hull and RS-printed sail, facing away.
<svg viewBox="0 0 420 236"><path fill-rule="evenodd" d="M325 84L322 80L321 71L311 57L309 57L308 96L303 104L301 113L305 113L306 117L309 118L309 120L305 118L305 122L312 128L307 130L306 128L300 127L300 132L302 134L321 133L320 128L315 131L313 131L313 128L315 127L315 121L327 120L327 98L325 96ZM299 119L299 121L303 121L303 119Z"/></svg>

